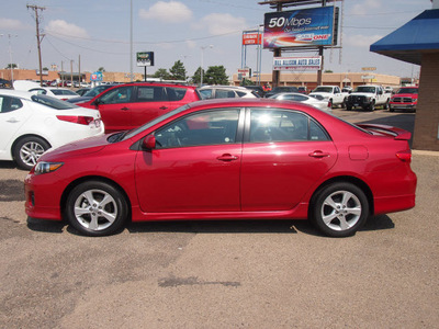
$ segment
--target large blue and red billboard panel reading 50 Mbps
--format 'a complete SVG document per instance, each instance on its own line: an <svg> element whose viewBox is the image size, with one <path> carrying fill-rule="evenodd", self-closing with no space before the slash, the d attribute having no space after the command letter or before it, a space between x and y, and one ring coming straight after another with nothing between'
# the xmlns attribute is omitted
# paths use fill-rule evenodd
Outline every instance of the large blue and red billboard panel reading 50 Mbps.
<svg viewBox="0 0 439 329"><path fill-rule="evenodd" d="M317 7L264 14L263 47L284 48L330 46L337 44L334 35L335 7ZM337 25L337 24L336 24Z"/></svg>

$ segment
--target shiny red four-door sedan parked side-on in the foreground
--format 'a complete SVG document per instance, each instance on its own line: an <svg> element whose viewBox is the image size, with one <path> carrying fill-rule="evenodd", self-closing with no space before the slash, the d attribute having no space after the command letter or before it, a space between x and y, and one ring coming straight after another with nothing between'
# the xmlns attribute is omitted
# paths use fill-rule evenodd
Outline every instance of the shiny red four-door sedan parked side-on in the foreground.
<svg viewBox="0 0 439 329"><path fill-rule="evenodd" d="M345 237L369 216L415 206L409 137L294 102L194 102L43 155L25 179L25 209L89 236L130 219L309 218Z"/></svg>

